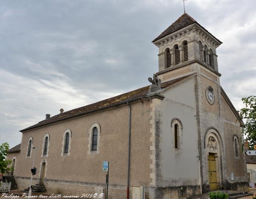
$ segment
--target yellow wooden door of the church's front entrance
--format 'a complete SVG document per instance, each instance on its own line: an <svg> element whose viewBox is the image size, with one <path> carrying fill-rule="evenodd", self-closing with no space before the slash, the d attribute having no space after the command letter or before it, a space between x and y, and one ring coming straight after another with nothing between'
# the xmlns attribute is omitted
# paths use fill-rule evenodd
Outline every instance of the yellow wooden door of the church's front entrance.
<svg viewBox="0 0 256 199"><path fill-rule="evenodd" d="M216 174L216 160L214 153L209 153L208 156L208 169L209 169L209 184L210 190L217 190L217 174Z"/></svg>

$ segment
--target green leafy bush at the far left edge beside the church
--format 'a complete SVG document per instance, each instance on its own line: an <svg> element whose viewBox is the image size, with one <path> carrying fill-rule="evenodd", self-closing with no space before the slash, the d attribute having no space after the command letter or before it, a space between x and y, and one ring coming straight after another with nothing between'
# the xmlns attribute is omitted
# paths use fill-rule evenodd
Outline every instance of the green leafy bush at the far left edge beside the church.
<svg viewBox="0 0 256 199"><path fill-rule="evenodd" d="M8 143L2 143L0 145L0 173L6 173L8 171L12 171L13 167L8 167L12 163L12 160L7 160L6 155L9 150L9 144Z"/></svg>

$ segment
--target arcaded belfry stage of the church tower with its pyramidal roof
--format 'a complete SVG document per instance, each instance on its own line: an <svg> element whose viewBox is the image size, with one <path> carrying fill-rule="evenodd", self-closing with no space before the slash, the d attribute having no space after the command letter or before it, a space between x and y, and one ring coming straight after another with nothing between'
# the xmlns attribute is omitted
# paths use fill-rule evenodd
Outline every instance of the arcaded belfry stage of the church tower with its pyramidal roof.
<svg viewBox="0 0 256 199"><path fill-rule="evenodd" d="M216 48L222 44L187 13L152 41L159 49L158 78L162 82L197 70L197 66L220 77Z"/></svg>

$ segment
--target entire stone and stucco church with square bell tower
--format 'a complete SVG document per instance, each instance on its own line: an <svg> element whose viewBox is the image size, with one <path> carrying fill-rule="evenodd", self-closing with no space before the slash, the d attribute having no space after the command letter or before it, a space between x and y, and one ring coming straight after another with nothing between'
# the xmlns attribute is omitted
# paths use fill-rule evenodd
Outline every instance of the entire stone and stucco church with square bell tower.
<svg viewBox="0 0 256 199"><path fill-rule="evenodd" d="M30 185L36 153L32 184L50 194L103 193L103 161L108 199L247 191L244 123L220 86L222 42L184 13L153 44L159 62L149 86L61 109L20 131L21 144L8 154L19 189Z"/></svg>

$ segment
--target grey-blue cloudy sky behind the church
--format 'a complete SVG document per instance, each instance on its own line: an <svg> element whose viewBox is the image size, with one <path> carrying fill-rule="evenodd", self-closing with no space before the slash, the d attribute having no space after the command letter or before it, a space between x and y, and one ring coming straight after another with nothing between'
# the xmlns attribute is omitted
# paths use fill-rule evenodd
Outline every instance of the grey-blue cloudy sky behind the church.
<svg viewBox="0 0 256 199"><path fill-rule="evenodd" d="M256 1L188 0L186 12L223 44L221 84L236 109L256 94ZM149 84L151 43L183 14L182 0L1 0L0 143L20 129Z"/></svg>

